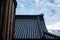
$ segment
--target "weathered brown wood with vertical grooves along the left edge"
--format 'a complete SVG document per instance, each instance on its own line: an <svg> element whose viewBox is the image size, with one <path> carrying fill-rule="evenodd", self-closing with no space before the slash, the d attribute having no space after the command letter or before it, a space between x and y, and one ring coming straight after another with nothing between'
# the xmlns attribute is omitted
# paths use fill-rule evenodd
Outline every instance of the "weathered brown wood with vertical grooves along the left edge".
<svg viewBox="0 0 60 40"><path fill-rule="evenodd" d="M0 5L0 39L12 40L16 0L1 0Z"/></svg>

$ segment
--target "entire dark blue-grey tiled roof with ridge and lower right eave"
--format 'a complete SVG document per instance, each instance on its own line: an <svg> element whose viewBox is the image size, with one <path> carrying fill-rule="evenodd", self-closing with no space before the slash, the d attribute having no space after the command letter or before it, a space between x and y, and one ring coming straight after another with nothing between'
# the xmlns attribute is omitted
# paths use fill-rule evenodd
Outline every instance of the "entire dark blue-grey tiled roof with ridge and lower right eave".
<svg viewBox="0 0 60 40"><path fill-rule="evenodd" d="M47 31L44 15L16 15L13 39L60 39Z"/></svg>

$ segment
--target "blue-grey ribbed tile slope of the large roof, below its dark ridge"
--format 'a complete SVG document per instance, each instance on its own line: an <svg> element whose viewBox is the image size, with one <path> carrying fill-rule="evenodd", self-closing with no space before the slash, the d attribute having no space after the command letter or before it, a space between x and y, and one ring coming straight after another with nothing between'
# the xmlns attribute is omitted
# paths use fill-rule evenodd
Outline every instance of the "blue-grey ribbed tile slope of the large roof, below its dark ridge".
<svg viewBox="0 0 60 40"><path fill-rule="evenodd" d="M40 38L36 19L16 19L14 38Z"/></svg>

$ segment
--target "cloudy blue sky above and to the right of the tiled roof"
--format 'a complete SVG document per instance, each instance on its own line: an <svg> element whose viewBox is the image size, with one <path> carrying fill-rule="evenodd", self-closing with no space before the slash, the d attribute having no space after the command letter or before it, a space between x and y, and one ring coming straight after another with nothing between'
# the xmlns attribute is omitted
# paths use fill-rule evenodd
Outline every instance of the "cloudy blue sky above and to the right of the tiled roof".
<svg viewBox="0 0 60 40"><path fill-rule="evenodd" d="M44 14L50 30L60 30L60 0L17 0L16 15Z"/></svg>

